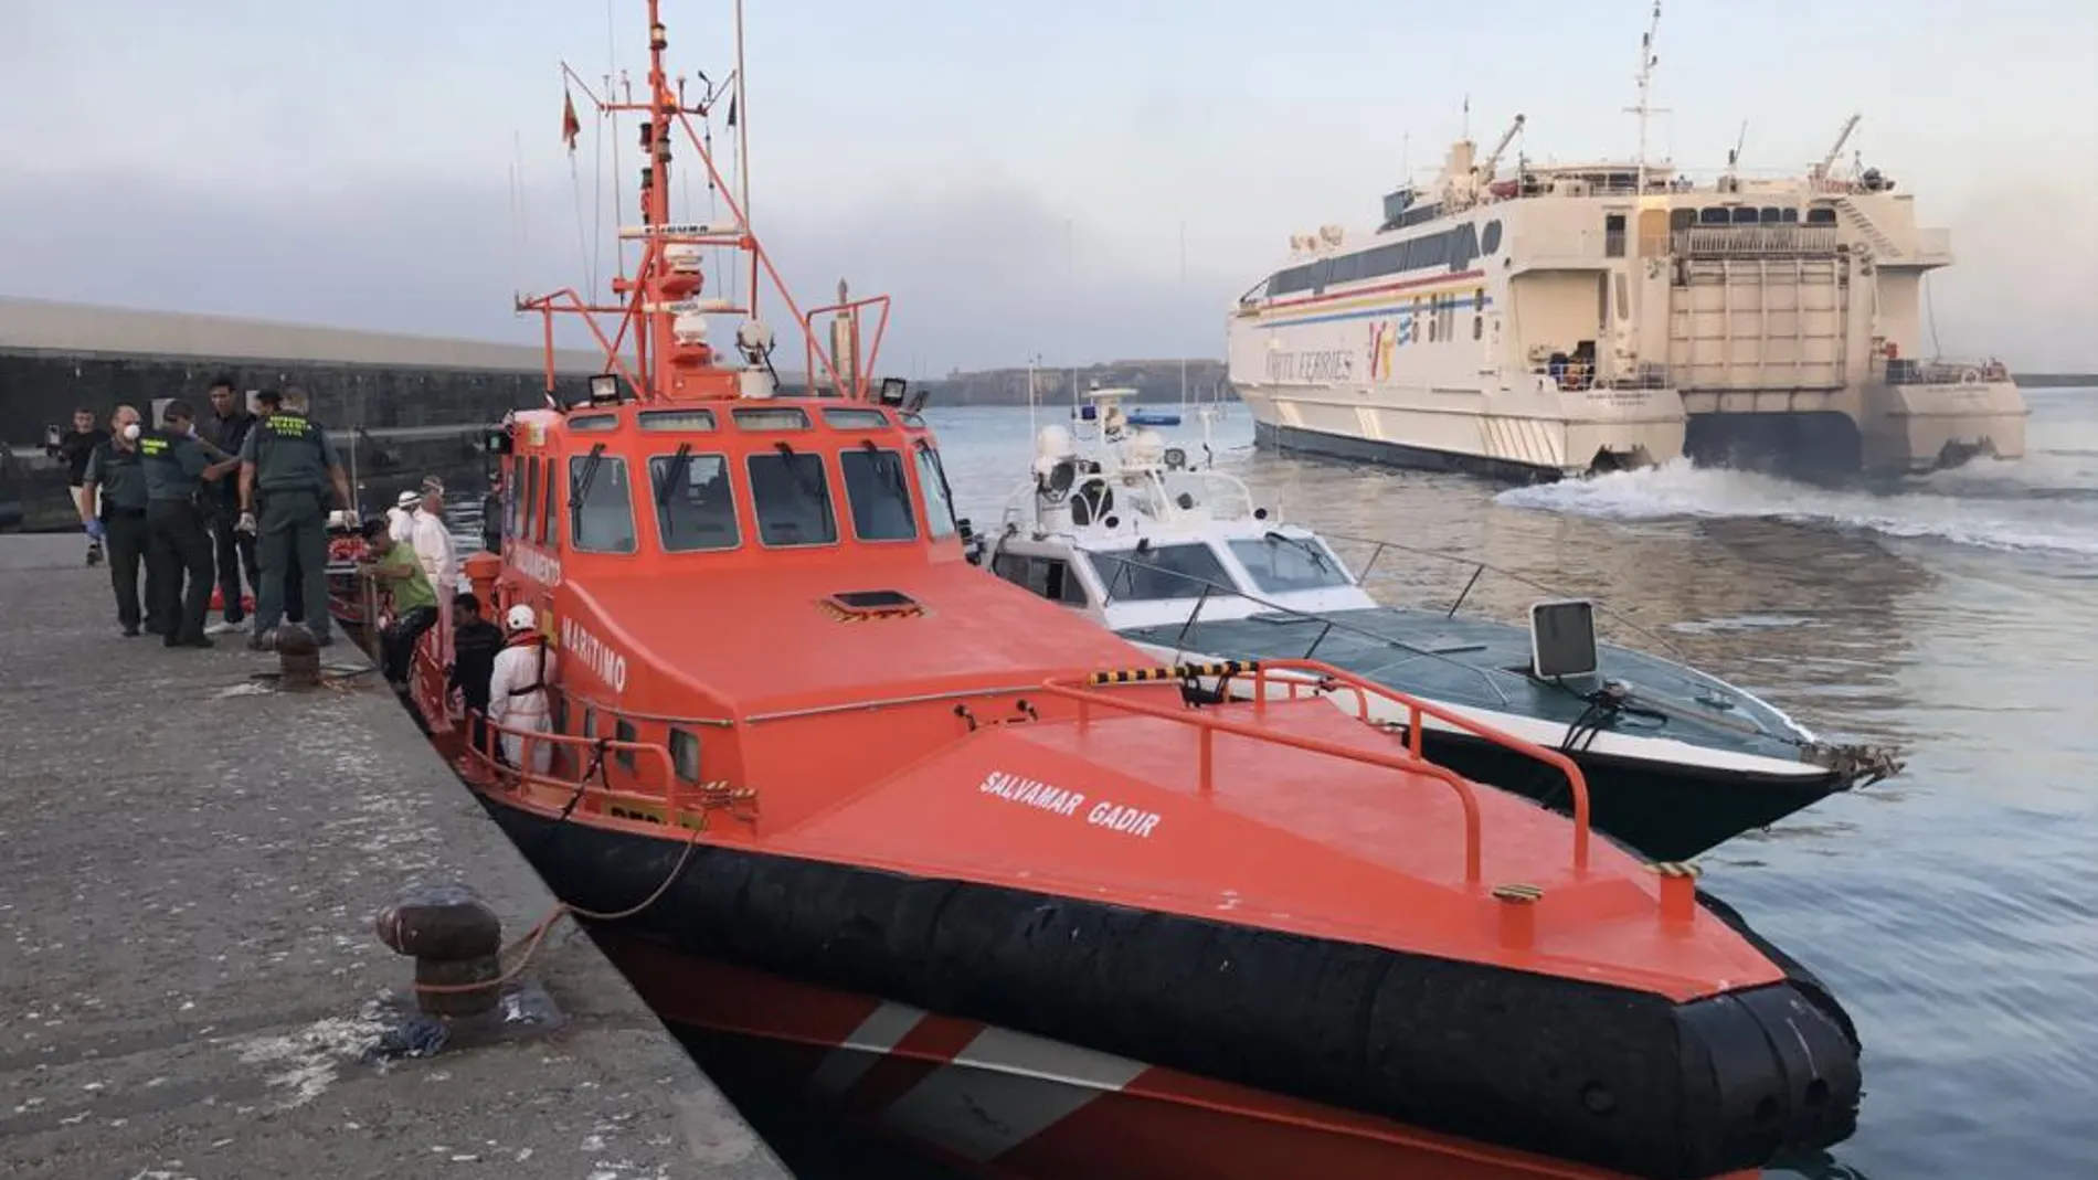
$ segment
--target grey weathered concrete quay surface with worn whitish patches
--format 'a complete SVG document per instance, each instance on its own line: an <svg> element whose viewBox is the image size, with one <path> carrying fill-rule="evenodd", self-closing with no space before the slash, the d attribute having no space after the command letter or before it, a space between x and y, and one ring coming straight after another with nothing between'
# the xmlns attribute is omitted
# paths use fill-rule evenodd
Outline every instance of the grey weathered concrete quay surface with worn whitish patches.
<svg viewBox="0 0 2098 1180"><path fill-rule="evenodd" d="M376 675L331 677L348 643L279 692L237 635L126 639L82 551L0 537L0 1174L787 1176L566 920L516 1021L401 1052L373 916L459 880L510 943L554 899Z"/></svg>

